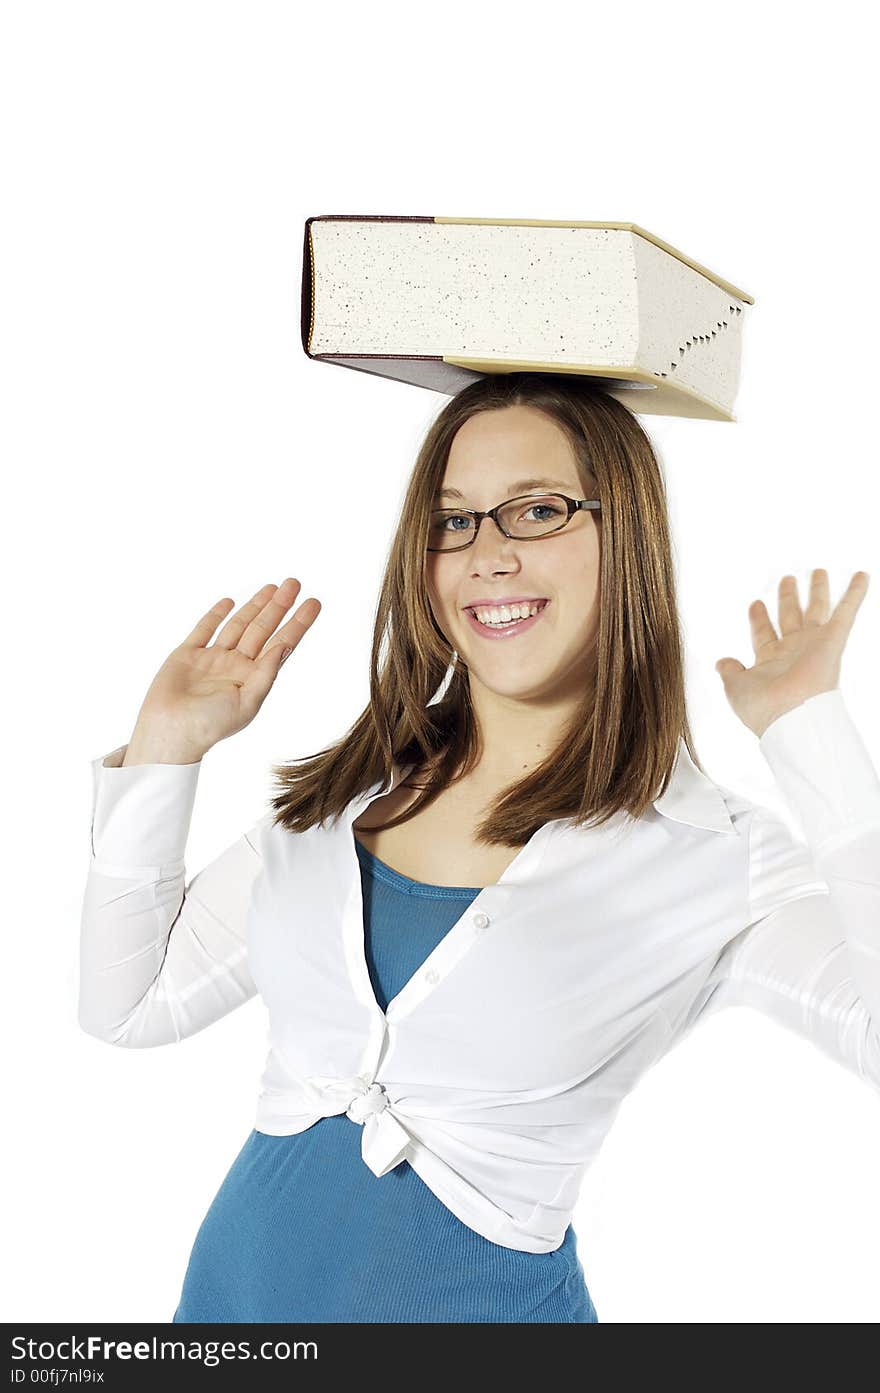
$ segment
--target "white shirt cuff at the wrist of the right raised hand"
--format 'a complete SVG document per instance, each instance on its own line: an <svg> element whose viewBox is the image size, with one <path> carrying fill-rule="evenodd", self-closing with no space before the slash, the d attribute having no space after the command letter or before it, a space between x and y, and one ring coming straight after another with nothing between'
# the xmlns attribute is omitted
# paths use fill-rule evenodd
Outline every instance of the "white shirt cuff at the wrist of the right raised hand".
<svg viewBox="0 0 880 1393"><path fill-rule="evenodd" d="M880 825L880 779L838 687L770 722L760 749L812 851Z"/></svg>

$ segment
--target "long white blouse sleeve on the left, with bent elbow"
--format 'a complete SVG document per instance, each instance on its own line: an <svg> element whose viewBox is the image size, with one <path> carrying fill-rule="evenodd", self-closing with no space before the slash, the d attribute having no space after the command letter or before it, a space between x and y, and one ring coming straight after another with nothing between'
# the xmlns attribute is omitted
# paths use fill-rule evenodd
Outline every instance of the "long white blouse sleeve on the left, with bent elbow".
<svg viewBox="0 0 880 1393"><path fill-rule="evenodd" d="M110 1045L196 1034L256 995L245 918L265 814L185 882L201 763L92 761L91 859L79 936L78 1020Z"/></svg>

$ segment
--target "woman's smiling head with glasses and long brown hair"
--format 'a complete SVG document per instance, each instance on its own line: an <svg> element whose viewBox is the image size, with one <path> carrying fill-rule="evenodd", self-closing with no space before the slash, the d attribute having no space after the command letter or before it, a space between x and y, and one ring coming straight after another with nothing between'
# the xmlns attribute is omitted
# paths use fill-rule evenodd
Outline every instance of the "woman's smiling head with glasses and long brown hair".
<svg viewBox="0 0 880 1393"><path fill-rule="evenodd" d="M517 617L504 605L536 599L543 610L500 627ZM278 825L338 815L395 761L421 795L388 826L458 780L485 805L485 847L524 846L550 818L639 816L679 738L699 768L682 652L666 488L636 417L586 378L487 375L443 408L415 461L370 702L329 749L276 766Z"/></svg>

